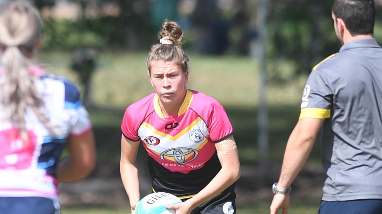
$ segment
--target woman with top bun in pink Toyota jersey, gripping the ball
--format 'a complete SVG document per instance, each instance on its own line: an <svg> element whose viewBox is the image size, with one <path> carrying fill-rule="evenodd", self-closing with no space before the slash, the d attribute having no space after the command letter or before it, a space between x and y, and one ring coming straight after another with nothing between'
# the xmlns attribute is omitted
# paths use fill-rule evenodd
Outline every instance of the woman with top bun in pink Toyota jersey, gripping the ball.
<svg viewBox="0 0 382 214"><path fill-rule="evenodd" d="M140 200L136 156L142 142L153 192L184 201L168 209L176 214L236 213L240 163L227 113L212 97L186 88L189 59L180 46L180 25L163 22L158 37L146 61L155 92L131 104L121 125L121 178L131 209Z"/></svg>

